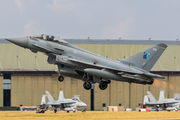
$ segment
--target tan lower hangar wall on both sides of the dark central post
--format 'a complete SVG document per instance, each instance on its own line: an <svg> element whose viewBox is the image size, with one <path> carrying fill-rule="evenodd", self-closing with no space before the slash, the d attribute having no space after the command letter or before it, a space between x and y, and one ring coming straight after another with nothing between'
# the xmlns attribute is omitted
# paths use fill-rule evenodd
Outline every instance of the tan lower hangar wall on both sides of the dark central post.
<svg viewBox="0 0 180 120"><path fill-rule="evenodd" d="M153 85L129 84L112 80L106 90L100 90L99 84L96 83L94 85L94 109L102 110L103 103L106 106L121 104L125 108L135 109L139 103L143 102L147 91L150 91L157 100L160 90L165 91L165 98L174 98L175 93L180 93L180 74L163 74L163 76L166 79L155 79ZM39 105L45 91L49 91L57 100L59 91L64 91L65 98L81 95L80 99L88 105L87 110L90 110L90 90L83 88L83 81L65 77L63 82L59 82L57 78L56 74L13 74L11 78L11 106ZM0 88L3 87L0 86ZM3 100L0 101L2 103ZM48 100L46 99L46 101Z"/></svg>

